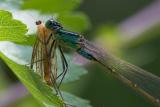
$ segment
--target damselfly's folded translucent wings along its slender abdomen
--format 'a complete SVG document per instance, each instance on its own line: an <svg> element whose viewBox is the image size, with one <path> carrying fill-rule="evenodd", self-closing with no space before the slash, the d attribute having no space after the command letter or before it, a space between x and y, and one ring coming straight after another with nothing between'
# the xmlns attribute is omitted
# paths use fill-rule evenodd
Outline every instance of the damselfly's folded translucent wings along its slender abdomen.
<svg viewBox="0 0 160 107"><path fill-rule="evenodd" d="M107 71L160 106L160 77L103 52L103 49L87 40L84 44L84 50L106 67Z"/></svg>

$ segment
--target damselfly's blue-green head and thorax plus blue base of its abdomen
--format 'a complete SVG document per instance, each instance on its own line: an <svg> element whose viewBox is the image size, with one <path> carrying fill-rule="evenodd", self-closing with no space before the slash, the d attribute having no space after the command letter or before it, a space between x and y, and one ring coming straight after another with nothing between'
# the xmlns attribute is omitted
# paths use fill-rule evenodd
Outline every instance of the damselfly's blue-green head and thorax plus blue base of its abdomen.
<svg viewBox="0 0 160 107"><path fill-rule="evenodd" d="M83 57L95 60L92 53L84 48L84 38L81 35L63 29L61 24L53 19L48 20L45 26L53 31L54 39L59 41L59 45L75 49Z"/></svg>

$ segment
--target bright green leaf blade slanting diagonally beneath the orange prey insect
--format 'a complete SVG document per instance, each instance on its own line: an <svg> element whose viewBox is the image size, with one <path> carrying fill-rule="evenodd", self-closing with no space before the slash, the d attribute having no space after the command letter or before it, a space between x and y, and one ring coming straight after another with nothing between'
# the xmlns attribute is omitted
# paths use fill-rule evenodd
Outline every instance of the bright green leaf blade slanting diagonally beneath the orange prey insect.
<svg viewBox="0 0 160 107"><path fill-rule="evenodd" d="M0 57L41 104L52 105L50 107L62 107L63 102L53 93L53 90L42 81L42 78L28 67L14 63L2 53L0 53Z"/></svg>

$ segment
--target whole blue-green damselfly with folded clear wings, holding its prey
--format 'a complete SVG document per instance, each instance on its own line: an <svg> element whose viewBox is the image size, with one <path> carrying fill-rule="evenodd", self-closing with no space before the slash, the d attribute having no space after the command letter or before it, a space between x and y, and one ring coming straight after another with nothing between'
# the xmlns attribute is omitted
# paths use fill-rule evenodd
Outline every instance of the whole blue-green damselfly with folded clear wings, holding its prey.
<svg viewBox="0 0 160 107"><path fill-rule="evenodd" d="M53 19L48 20L45 26L52 31L52 38L50 39L57 42L57 45L54 44L53 47L60 49L64 66L67 65L67 62L61 47L66 46L76 50L83 57L98 62L115 77L160 106L160 78L158 76L120 60L108 52L102 52L102 49L87 41L83 36L65 30L60 23ZM67 69L61 74L63 75L61 81L66 72Z"/></svg>

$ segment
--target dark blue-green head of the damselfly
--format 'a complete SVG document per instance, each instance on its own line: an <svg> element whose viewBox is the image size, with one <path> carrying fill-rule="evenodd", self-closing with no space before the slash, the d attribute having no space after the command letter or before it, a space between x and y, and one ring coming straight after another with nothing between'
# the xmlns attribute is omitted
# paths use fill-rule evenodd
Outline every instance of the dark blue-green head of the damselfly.
<svg viewBox="0 0 160 107"><path fill-rule="evenodd" d="M59 29L62 29L63 27L61 26L60 23L58 23L57 21L50 19L46 22L45 26L50 29L50 30L54 30L57 31Z"/></svg>

